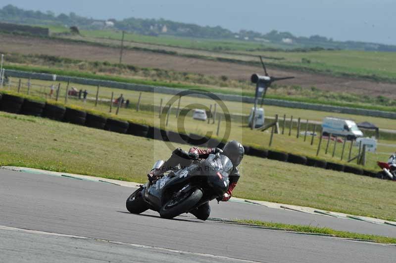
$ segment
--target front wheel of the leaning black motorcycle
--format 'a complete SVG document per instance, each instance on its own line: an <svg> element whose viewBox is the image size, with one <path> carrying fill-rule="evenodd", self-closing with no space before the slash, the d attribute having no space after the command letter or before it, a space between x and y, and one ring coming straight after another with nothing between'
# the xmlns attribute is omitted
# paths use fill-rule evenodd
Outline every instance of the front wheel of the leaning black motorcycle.
<svg viewBox="0 0 396 263"><path fill-rule="evenodd" d="M161 218L172 219L188 212L202 198L202 191L198 188L191 189L182 196L174 196L159 211Z"/></svg>

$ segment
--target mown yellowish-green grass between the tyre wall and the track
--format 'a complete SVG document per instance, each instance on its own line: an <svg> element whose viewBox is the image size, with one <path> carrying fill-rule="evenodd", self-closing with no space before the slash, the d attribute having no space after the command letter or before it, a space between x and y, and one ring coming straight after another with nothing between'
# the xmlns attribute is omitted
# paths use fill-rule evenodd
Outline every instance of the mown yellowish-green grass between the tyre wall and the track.
<svg viewBox="0 0 396 263"><path fill-rule="evenodd" d="M0 124L0 165L144 182L153 158L170 154L161 141L37 117L0 113ZM250 156L241 173L238 197L395 219L392 181Z"/></svg>

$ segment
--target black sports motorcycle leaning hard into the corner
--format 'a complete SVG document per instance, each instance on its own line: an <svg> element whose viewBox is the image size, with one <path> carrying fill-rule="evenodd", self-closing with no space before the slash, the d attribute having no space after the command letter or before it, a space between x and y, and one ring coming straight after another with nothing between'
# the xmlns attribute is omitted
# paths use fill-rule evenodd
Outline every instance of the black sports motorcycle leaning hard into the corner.
<svg viewBox="0 0 396 263"><path fill-rule="evenodd" d="M141 185L128 197L127 209L133 214L151 209L166 219L188 213L210 200L222 199L228 190L228 175L232 169L227 156L210 154L205 160L194 161L153 183Z"/></svg>

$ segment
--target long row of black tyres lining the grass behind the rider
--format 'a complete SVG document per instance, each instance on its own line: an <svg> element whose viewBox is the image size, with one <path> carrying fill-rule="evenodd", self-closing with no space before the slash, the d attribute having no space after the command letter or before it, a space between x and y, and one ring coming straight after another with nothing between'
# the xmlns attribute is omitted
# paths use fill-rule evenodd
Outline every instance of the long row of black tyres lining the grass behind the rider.
<svg viewBox="0 0 396 263"><path fill-rule="evenodd" d="M7 102L7 104L5 104L5 107L11 107L11 108L14 108L15 105L17 105L17 107L23 107L23 103L25 103L25 101L29 101L29 100L25 100L18 96L0 93L0 107L1 108L3 108L3 105L4 105L3 104L4 98L6 99L5 102ZM20 103L21 101L23 103ZM63 116L63 114L64 114L64 118L61 119L60 116ZM148 137L148 138L157 139L157 140L163 140L164 138L168 138L169 141L185 143L186 141L198 139L197 134L191 134L191 135L193 135L192 137L190 137L186 134L178 134L180 136L180 138L182 138L182 140L180 138L175 139L175 135L177 134L176 132L165 132L165 131L160 130L156 127L148 127L146 125L140 125L140 124L125 122L125 121L120 121L120 120L115 120L115 119L105 119L104 117L86 113L85 111L80 111L80 110L76 110L76 109L72 109L72 108L68 108L68 107L64 108L61 106L51 105L51 104L47 104L47 103L44 107L42 116L50 118L50 119L55 119L58 121L66 121L66 122L76 123L76 124L85 125L85 126L89 126L87 124L86 120L89 120L92 122L103 122L104 120L106 120L106 124L104 126L105 130L113 131L113 132L120 132L120 133L128 133L128 134L132 134L132 135L136 135L136 136L143 136L143 137ZM99 128L99 127L95 127L95 128ZM207 143L205 143L205 145L207 147L219 147L219 148L224 147L223 142L220 142L214 138L210 138L207 141ZM340 172L346 172L346 173L349 172L349 173L356 174L356 175L363 174L366 176L388 179L380 174L376 174L371 171L366 171L366 170L361 170L359 168L344 166L342 164L326 162L323 160L316 160L316 159L312 159L312 158L307 158L307 157L298 156L298 155L294 155L294 154L288 154L288 153L279 152L279 151L261 150L261 149L256 149L256 148L250 147L250 146L244 146L244 147L245 147L247 155L256 156L259 158L268 158L268 159L278 160L278 161L282 161L282 162L289 161L291 163L297 163L300 165L314 166L317 168L336 170L336 171L340 171ZM344 169L345 169L345 171L344 171Z"/></svg>

